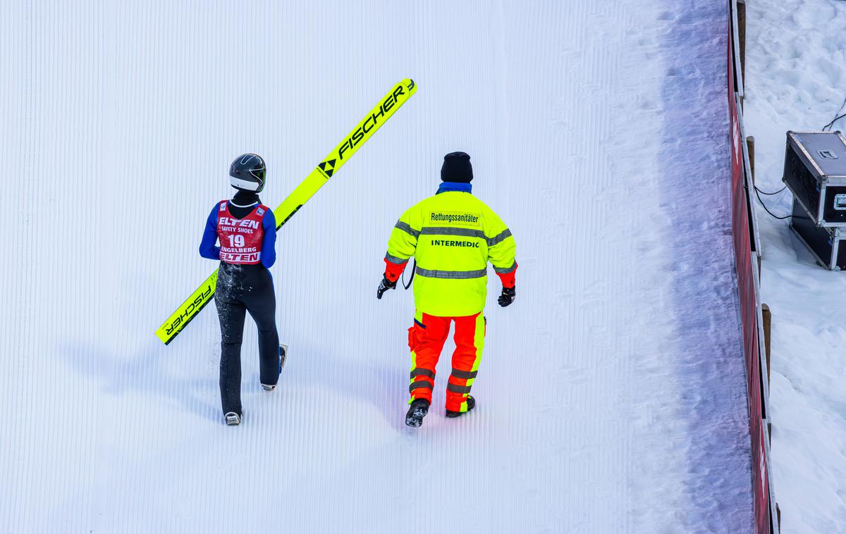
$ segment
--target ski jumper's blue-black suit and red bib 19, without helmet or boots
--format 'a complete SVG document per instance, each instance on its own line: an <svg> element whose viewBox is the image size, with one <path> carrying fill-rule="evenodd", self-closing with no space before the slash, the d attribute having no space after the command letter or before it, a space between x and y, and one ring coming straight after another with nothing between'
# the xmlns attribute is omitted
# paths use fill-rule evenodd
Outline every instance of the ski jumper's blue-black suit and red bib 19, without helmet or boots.
<svg viewBox="0 0 846 534"><path fill-rule="evenodd" d="M239 192L232 200L218 202L206 221L200 254L220 259L215 304L221 332L221 404L224 414L241 415L241 341L248 312L258 327L261 384L279 380L276 296L267 270L276 261L272 210L255 193Z"/></svg>

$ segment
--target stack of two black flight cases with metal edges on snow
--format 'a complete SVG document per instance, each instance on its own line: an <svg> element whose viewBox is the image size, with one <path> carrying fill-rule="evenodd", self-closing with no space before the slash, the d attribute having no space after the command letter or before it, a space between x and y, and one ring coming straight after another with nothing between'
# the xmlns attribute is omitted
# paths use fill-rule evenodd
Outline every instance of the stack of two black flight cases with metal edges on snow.
<svg viewBox="0 0 846 534"><path fill-rule="evenodd" d="M788 132L783 182L794 195L790 228L831 270L846 270L846 138L840 132Z"/></svg>

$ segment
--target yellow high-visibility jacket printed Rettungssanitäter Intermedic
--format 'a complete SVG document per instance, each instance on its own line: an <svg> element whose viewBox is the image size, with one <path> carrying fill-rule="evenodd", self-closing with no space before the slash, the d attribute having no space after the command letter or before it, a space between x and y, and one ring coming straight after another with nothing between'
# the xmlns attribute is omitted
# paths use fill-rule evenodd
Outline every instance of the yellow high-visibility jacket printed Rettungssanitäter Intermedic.
<svg viewBox="0 0 846 534"><path fill-rule="evenodd" d="M514 273L515 250L511 231L491 208L470 193L447 191L422 200L399 218L385 260L404 265L415 257L419 311L464 317L485 308L487 262L499 275Z"/></svg>

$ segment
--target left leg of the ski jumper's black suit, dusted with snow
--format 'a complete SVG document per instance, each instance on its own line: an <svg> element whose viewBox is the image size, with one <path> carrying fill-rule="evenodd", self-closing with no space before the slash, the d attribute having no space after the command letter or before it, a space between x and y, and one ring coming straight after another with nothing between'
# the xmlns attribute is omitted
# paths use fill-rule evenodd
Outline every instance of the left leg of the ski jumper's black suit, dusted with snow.
<svg viewBox="0 0 846 534"><path fill-rule="evenodd" d="M223 413L241 415L241 341L244 335L246 307L240 302L225 302L215 297L220 319L220 401Z"/></svg>

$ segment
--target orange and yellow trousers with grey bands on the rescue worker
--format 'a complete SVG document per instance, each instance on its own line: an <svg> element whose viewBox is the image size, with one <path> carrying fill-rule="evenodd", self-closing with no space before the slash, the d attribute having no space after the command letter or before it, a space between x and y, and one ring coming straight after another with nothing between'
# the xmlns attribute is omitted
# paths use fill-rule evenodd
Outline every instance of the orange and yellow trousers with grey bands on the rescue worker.
<svg viewBox="0 0 846 534"><path fill-rule="evenodd" d="M467 411L467 395L479 372L481 352L485 347L486 320L481 312L466 317L436 317L419 310L415 313L415 325L409 328L409 392L411 401L426 399L431 402L431 392L435 388L435 367L449 335L449 324L453 321L455 352L453 371L449 374L447 384L446 408L449 411Z"/></svg>

